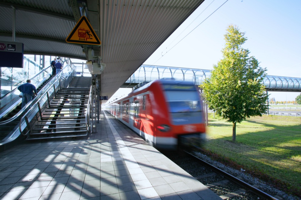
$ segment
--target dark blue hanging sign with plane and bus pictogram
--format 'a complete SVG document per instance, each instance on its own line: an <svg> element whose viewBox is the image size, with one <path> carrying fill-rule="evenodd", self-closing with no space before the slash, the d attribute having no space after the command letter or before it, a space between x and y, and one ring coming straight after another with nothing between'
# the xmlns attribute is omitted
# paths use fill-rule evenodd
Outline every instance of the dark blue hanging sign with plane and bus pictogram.
<svg viewBox="0 0 301 200"><path fill-rule="evenodd" d="M0 41L0 67L23 68L24 44Z"/></svg>

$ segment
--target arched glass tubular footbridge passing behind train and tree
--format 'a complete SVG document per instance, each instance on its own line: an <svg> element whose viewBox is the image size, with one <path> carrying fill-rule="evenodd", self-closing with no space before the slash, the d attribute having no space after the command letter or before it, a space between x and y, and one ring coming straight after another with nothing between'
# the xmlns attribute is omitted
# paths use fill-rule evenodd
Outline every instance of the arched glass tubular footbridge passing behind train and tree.
<svg viewBox="0 0 301 200"><path fill-rule="evenodd" d="M211 70L205 69L141 65L121 87L134 87L138 83L160 78L188 80L200 85L210 75ZM267 75L263 84L267 91L301 92L301 78Z"/></svg>

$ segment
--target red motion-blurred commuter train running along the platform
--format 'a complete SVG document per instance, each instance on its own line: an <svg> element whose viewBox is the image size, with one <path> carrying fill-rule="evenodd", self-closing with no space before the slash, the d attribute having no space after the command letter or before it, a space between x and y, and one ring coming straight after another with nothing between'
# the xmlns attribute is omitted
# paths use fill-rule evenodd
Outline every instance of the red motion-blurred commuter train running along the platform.
<svg viewBox="0 0 301 200"><path fill-rule="evenodd" d="M205 141L202 101L193 82L160 79L139 85L106 110L159 149Z"/></svg>

